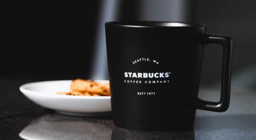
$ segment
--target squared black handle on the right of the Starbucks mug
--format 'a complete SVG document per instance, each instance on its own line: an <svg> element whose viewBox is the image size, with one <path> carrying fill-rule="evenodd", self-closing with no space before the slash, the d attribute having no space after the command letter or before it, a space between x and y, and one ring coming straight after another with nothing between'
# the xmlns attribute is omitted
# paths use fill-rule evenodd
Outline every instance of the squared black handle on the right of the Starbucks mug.
<svg viewBox="0 0 256 140"><path fill-rule="evenodd" d="M198 96L194 101L194 105L198 109L224 112L229 106L230 100L230 77L231 77L231 61L233 51L233 41L228 36L204 35L200 43L204 47L206 44L220 44L223 47L222 58L222 76L221 76L221 98L219 102L205 101Z"/></svg>

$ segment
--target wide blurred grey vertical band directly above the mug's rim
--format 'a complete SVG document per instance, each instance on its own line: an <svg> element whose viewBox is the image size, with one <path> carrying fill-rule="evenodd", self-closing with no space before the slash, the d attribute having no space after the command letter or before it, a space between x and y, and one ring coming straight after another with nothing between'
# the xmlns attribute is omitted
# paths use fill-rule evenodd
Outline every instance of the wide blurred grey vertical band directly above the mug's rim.
<svg viewBox="0 0 256 140"><path fill-rule="evenodd" d="M192 5L189 0L141 0L140 20L180 21L191 20Z"/></svg>

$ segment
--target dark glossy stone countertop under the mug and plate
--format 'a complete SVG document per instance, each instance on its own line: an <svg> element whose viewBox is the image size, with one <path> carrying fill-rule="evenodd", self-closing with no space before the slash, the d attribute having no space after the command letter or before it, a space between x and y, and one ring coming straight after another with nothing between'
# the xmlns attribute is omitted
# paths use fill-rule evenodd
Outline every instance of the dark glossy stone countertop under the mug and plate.
<svg viewBox="0 0 256 140"><path fill-rule="evenodd" d="M256 139L256 92L231 91L225 113L197 110L194 131L138 131L115 127L111 117L63 116L19 92L34 80L0 80L0 139ZM201 88L199 97L217 101L219 90Z"/></svg>

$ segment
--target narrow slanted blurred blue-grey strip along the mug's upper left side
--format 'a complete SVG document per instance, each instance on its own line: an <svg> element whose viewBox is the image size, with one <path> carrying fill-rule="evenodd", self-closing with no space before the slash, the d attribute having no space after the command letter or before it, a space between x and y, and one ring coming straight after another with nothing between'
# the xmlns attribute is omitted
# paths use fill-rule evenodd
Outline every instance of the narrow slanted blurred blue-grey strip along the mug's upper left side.
<svg viewBox="0 0 256 140"><path fill-rule="evenodd" d="M104 23L117 20L118 4L118 0L103 0L100 2L90 79L108 79Z"/></svg>

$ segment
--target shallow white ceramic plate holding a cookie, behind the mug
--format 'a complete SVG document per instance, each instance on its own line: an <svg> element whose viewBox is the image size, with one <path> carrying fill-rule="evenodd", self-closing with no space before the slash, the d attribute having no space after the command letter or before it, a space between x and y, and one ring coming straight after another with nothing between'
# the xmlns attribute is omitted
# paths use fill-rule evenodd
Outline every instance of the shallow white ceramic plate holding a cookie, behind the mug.
<svg viewBox="0 0 256 140"><path fill-rule="evenodd" d="M108 80L96 80L101 83ZM106 115L111 111L110 96L57 95L69 92L71 80L27 83L19 90L34 103L69 115Z"/></svg>

